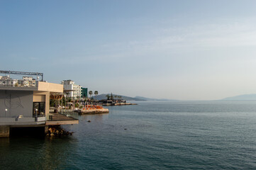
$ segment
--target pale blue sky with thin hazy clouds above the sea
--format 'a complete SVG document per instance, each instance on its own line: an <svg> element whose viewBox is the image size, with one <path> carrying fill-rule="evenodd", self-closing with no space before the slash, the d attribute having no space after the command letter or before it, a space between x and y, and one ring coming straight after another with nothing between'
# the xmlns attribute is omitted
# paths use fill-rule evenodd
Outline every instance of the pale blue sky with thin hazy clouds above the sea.
<svg viewBox="0 0 256 170"><path fill-rule="evenodd" d="M0 69L99 94L256 94L256 1L0 1Z"/></svg>

